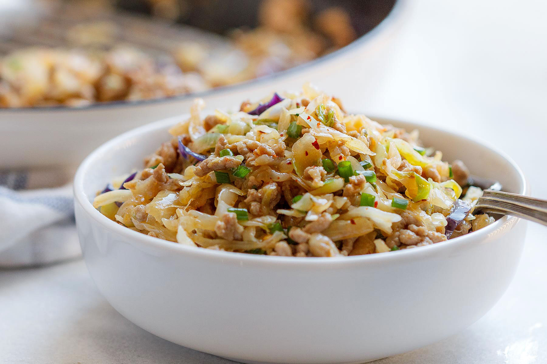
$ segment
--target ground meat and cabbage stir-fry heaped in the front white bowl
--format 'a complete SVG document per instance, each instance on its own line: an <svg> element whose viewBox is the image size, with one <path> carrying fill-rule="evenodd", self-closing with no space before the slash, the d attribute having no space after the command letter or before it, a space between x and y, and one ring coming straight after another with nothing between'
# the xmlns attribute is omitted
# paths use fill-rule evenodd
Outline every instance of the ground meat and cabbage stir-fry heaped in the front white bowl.
<svg viewBox="0 0 547 364"><path fill-rule="evenodd" d="M311 85L203 117L196 99L146 168L94 206L135 231L231 252L340 256L438 243L494 219L417 130L348 114ZM462 196L462 186L467 192Z"/></svg>

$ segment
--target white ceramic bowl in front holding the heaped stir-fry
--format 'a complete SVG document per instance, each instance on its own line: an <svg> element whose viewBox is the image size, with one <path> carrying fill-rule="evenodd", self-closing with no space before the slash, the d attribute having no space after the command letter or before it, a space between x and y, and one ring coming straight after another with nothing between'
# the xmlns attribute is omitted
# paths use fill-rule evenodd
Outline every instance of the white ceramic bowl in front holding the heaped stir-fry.
<svg viewBox="0 0 547 364"><path fill-rule="evenodd" d="M379 119L376 119L379 120ZM386 122L385 120L379 120ZM181 246L118 225L90 201L141 168L176 120L107 142L75 176L75 213L98 289L127 319L185 347L242 362L360 363L439 341L473 324L507 289L525 223L503 217L416 249L343 258L257 256ZM479 141L417 124L426 145L526 194L521 170Z"/></svg>

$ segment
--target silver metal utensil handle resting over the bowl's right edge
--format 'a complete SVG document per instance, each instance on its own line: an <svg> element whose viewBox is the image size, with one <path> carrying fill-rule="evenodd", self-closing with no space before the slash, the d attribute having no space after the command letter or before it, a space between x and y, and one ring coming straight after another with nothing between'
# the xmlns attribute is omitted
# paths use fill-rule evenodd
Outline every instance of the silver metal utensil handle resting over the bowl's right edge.
<svg viewBox="0 0 547 364"><path fill-rule="evenodd" d="M487 189L475 210L509 214L547 226L547 201L515 193Z"/></svg>

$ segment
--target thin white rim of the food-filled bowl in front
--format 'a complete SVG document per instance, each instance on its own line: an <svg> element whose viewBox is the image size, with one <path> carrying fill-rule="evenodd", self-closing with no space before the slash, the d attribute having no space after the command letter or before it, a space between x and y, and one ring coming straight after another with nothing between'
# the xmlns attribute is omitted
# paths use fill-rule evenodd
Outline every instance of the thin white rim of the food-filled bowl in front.
<svg viewBox="0 0 547 364"><path fill-rule="evenodd" d="M86 175L86 171L89 168L89 165L92 162L94 162L98 157L103 156L104 154L107 154L107 152L109 150L112 150L112 148L119 145L123 145L124 141L127 141L136 136L141 136L142 134L146 134L148 132L156 132L161 129L166 130L167 127L181 120L181 118L185 116L188 116L188 114L166 118L164 120L149 123L144 126L129 130L128 132L120 134L117 137L107 141L100 147L96 148L96 150L91 152L89 156L84 159L84 161L80 164L75 174L73 188L74 188L74 203L82 206L84 212L87 215L86 217L88 219L91 218L92 220L94 220L95 223L100 225L102 229L107 229L116 234L123 235L127 239L127 241L132 241L136 244L141 244L141 243L145 245L149 244L156 248L166 249L167 251L171 253L176 252L180 254L188 254L189 256L192 256L194 258L208 259L208 260L222 261L222 262L231 261L231 262L236 262L237 264L243 264L243 262L245 262L245 264L252 264L252 265L257 264L257 265L276 265L276 266L277 265L278 266L319 265L319 266L330 267L330 268L339 267L341 265L346 266L346 265L353 265L353 264L384 264L386 261L400 262L401 260L404 261L407 259L419 259L419 258L423 258L424 256L430 256L432 254L441 253L444 250L447 250L450 247L453 247L455 245L462 246L462 247L469 246L469 244L474 244L478 241L485 240L486 238L490 237L492 234L496 234L496 231L497 231L497 234L505 234L507 233L507 231L513 229L514 226L520 222L520 218L506 215L502 217L501 219L497 220L496 222L494 222L493 224L486 226L486 228L480 229L479 231L474 231L470 234L459 236L442 243L423 246L423 247L420 247L419 249L403 249L397 252L388 252L390 254L377 253L377 254L366 254L366 255L340 256L340 257L334 257L334 258L327 258L327 257L310 258L310 257L295 257L295 256L264 257L261 255L255 255L255 254L225 252L223 250L212 250L212 249L205 249L205 248L190 247L190 246L185 246L182 244L162 240L157 237L151 237L148 235L144 235L140 232L128 229L125 226L121 226L113 222L112 220L108 219L106 216L104 216L98 210L96 210L96 208L93 207L93 205L88 200L84 192L85 175ZM514 169L514 171L517 172L517 175L519 176L519 182L522 185L522 188L519 191L519 193L524 195L529 193L528 183L520 167L514 162L513 159L507 156L507 154L498 150L498 148L490 145L488 142L482 141L481 139L475 138L474 136L470 137L462 133L453 132L451 130L445 130L438 127L428 126L428 125L424 125L424 124L416 123L416 122L402 121L398 119L383 118L383 117L376 117L376 118L371 117L371 119L379 120L380 122L383 122L383 123L393 122L393 123L405 124L407 128L416 128L418 130L429 129L430 132L449 134L449 136L454 136L456 138L464 138L469 141L481 144L485 146L486 148L490 149L493 153L498 154L498 156L505 159L510 164L510 166Z"/></svg>

